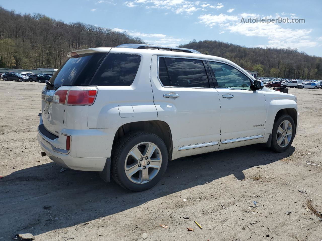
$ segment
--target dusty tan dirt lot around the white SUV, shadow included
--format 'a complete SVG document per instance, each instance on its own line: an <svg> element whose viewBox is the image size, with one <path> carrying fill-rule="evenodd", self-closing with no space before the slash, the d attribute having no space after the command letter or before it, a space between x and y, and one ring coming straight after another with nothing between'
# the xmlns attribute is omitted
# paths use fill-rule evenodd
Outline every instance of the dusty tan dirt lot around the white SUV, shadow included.
<svg viewBox="0 0 322 241"><path fill-rule="evenodd" d="M321 89L289 90L301 120L287 152L253 145L181 158L154 188L135 193L94 172L60 173L40 156L43 85L0 81L0 240L18 232L36 241L143 240L143 233L146 240L322 239L322 221L304 207L311 200L322 211Z"/></svg>

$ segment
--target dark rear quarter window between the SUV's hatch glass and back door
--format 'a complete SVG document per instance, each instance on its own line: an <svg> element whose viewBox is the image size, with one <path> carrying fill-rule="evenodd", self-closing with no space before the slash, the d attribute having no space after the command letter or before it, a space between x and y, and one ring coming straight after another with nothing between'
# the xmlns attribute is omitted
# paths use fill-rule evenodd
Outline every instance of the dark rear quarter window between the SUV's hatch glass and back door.
<svg viewBox="0 0 322 241"><path fill-rule="evenodd" d="M99 67L90 85L132 85L141 57L135 54L110 53Z"/></svg>

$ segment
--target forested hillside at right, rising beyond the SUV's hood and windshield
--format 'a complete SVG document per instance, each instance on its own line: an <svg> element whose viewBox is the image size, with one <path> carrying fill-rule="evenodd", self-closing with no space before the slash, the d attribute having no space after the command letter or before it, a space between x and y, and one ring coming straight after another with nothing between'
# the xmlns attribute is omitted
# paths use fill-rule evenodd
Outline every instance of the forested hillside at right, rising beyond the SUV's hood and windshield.
<svg viewBox="0 0 322 241"><path fill-rule="evenodd" d="M322 80L322 58L296 49L245 48L220 41L191 41L179 47L227 58L259 76Z"/></svg>

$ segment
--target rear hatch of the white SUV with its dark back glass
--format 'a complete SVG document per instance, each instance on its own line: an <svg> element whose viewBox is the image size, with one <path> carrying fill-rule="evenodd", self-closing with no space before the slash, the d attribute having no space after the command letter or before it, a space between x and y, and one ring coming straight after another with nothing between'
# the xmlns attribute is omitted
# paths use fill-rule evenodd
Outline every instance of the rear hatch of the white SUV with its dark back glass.
<svg viewBox="0 0 322 241"><path fill-rule="evenodd" d="M64 124L65 104L61 100L55 103L56 91L67 92L72 86L87 86L107 54L108 51L93 52L91 49L72 52L68 55L71 58L50 78L42 92L43 125L49 132L59 136Z"/></svg>

